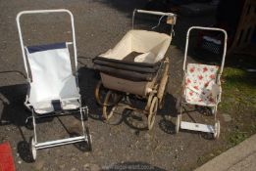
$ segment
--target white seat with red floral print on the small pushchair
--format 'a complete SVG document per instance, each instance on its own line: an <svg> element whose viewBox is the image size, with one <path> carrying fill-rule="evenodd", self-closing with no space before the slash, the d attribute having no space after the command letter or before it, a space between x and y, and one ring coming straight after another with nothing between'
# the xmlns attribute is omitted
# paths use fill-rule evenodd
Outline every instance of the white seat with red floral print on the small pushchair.
<svg viewBox="0 0 256 171"><path fill-rule="evenodd" d="M187 104L214 107L221 87L216 84L219 66L187 64L184 97Z"/></svg>

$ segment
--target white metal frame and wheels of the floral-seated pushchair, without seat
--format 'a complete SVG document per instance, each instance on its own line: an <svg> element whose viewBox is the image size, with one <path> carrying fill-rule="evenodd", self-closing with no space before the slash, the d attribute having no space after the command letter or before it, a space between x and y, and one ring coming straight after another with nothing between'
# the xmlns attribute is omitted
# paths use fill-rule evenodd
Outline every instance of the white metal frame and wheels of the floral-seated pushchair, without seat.
<svg viewBox="0 0 256 171"><path fill-rule="evenodd" d="M192 122L186 122L186 121L181 121L181 115L182 115L182 110L183 106L187 104L184 101L184 89L185 89L185 75L186 75L186 58L187 58L187 50L188 50L188 43L189 43L189 34L192 29L200 29L200 30L212 30L212 31L221 31L224 33L224 52L223 52L223 58L222 58L222 64L219 69L218 75L216 77L216 84L221 86L221 75L223 72L224 64L225 64L225 58L226 58L226 53L227 53L227 39L228 39L228 34L226 30L221 29L221 28L216 28L216 27L202 27L202 26L191 26L186 33L186 43L185 43L185 51L184 51L184 60L183 60L183 80L182 80L182 90L181 90L181 97L177 101L177 108L179 109L179 114L177 116L177 121L176 121L176 132L179 133L179 129L186 129L186 130L192 130L192 131L199 131L199 132L205 132L205 133L211 133L213 135L214 139L218 139L220 136L220 121L217 119L217 109L218 109L218 104L221 102L221 96L222 96L222 91L220 91L219 95L216 98L216 104L211 107L210 112L214 115L214 120L215 124L214 125L207 125L207 124L201 124L201 123L192 123ZM204 106L205 107L205 106Z"/></svg>

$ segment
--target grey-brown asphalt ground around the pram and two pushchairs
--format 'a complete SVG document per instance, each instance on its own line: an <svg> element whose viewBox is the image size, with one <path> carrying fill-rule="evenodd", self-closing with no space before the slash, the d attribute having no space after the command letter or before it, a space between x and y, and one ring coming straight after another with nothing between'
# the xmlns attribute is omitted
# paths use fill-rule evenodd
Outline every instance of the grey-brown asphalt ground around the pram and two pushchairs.
<svg viewBox="0 0 256 171"><path fill-rule="evenodd" d="M171 46L167 53L171 58L168 87L170 94L164 109L158 112L153 130L140 131L132 128L128 119L121 115L121 123L118 125L108 125L101 121L101 107L96 105L93 96L99 77L98 73L90 69L91 59L112 48L125 35L130 29L132 10L143 7L144 3L142 0L1 1L0 143L10 142L17 170L191 170L197 167L200 156L224 143L222 136L219 141L211 141L198 133L174 134L177 114L175 106L182 78L182 52L177 46ZM93 139L93 151L82 151L74 145L39 150L36 162L29 163L27 142L33 132L25 127L26 117L30 113L23 105L26 97L26 72L16 15L24 10L62 8L71 10L75 16L79 86L82 104L89 107L88 124ZM22 26L26 45L70 40L68 18L62 17L24 17ZM189 22L180 18L178 20L179 31L174 42L182 43L187 26L201 24L203 21L203 25L211 22L201 18L189 19ZM176 44L182 49L182 43ZM64 138L79 130L79 120L73 116L43 120L37 128L39 141Z"/></svg>

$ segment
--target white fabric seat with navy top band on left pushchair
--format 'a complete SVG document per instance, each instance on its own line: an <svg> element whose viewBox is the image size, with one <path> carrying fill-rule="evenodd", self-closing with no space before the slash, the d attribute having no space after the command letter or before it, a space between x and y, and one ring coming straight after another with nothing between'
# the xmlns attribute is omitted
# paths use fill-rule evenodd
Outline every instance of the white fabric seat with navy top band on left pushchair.
<svg viewBox="0 0 256 171"><path fill-rule="evenodd" d="M27 47L26 54L32 76L28 103L35 112L54 111L54 100L62 109L78 108L80 95L66 43Z"/></svg>

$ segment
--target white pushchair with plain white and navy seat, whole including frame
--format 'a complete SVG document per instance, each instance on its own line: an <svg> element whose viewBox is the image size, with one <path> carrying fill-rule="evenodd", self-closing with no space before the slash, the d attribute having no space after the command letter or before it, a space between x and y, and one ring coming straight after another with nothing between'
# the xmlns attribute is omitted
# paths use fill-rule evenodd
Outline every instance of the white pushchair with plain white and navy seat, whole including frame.
<svg viewBox="0 0 256 171"><path fill-rule="evenodd" d="M25 46L20 18L23 15L68 13L72 24L72 42L54 43L39 46ZM26 69L28 91L25 106L32 115L34 136L30 138L32 159L36 159L36 150L57 147L78 142L86 142L91 150L91 137L84 120L88 118L88 107L81 107L81 98L77 82L77 46L73 14L68 10L23 11L17 15L17 25ZM73 73L69 45L73 45L76 71ZM36 120L68 114L80 114L81 136L39 143L36 135ZM26 119L26 122L27 122Z"/></svg>

